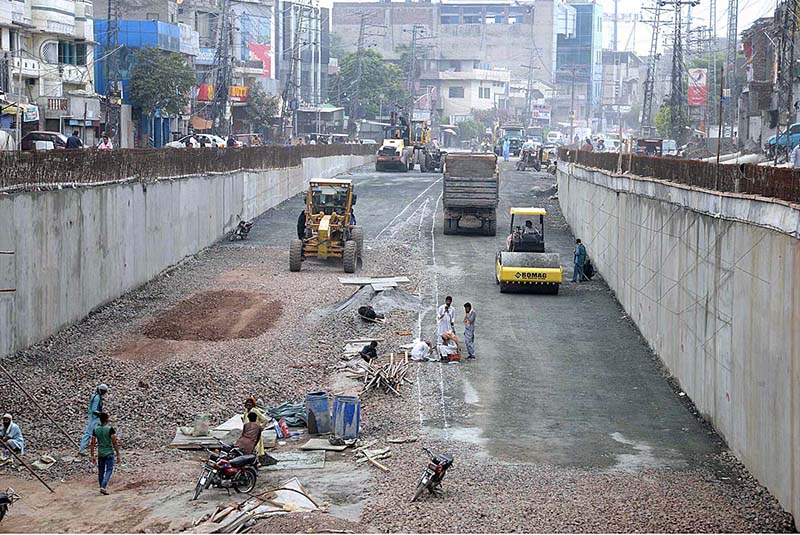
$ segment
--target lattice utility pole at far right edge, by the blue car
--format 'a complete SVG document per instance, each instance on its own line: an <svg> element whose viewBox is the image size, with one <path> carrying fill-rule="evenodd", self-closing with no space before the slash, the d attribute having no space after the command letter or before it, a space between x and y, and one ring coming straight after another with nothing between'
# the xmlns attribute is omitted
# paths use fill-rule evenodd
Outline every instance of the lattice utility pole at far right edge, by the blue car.
<svg viewBox="0 0 800 535"><path fill-rule="evenodd" d="M786 137L786 156L788 158L791 151L791 143L789 142L789 126L797 118L797 110L794 106L794 95L792 92L795 80L795 57L794 57L794 39L797 32L797 0L783 0L783 23L780 29L780 39L778 42L778 80L776 89L778 90L778 128L775 143L775 156L773 163L778 163L778 147L780 144L777 140L781 136ZM786 128L781 133L781 115L786 113Z"/></svg>

